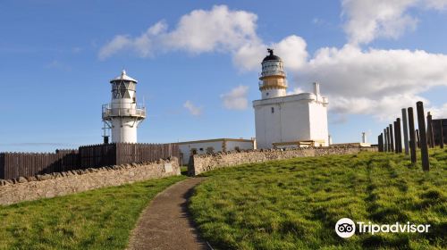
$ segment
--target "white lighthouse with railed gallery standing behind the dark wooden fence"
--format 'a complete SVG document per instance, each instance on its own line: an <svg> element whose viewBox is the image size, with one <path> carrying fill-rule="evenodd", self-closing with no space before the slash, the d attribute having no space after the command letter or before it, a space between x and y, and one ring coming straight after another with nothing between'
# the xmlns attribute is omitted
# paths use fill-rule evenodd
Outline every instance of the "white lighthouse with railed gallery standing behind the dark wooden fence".
<svg viewBox="0 0 447 250"><path fill-rule="evenodd" d="M112 129L112 142L137 143L137 128L146 118L146 107L137 104L137 82L126 71L110 80L112 101L103 105L103 121Z"/></svg>

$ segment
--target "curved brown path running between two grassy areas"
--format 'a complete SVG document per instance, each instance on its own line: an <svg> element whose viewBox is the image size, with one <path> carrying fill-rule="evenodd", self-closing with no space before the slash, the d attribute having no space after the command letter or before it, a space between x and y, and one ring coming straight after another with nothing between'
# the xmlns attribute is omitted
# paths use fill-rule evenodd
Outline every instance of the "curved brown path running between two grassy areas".
<svg viewBox="0 0 447 250"><path fill-rule="evenodd" d="M132 231L129 249L211 249L198 237L187 211L193 187L203 178L183 180L158 194Z"/></svg>

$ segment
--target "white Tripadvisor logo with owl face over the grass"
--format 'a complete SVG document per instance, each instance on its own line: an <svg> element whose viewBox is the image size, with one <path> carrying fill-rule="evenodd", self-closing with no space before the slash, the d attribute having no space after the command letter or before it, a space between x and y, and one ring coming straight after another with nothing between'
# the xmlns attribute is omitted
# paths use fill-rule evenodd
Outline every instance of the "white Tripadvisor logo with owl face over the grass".
<svg viewBox="0 0 447 250"><path fill-rule="evenodd" d="M427 233L431 225L428 224L411 224L396 222L394 224L373 224L371 221L367 223L357 221L359 233ZM335 224L335 232L339 237L351 237L356 233L356 223L350 218L342 218Z"/></svg>

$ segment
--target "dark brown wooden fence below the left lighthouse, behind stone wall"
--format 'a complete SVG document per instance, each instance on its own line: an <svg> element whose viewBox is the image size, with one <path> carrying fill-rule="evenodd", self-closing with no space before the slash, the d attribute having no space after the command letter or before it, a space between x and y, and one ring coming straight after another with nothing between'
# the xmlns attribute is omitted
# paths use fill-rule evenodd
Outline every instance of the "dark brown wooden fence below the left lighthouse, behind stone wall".
<svg viewBox="0 0 447 250"><path fill-rule="evenodd" d="M177 144L102 144L80 146L79 150L56 153L0 153L0 179L15 179L37 174L97 168L131 162L155 162L175 156Z"/></svg>

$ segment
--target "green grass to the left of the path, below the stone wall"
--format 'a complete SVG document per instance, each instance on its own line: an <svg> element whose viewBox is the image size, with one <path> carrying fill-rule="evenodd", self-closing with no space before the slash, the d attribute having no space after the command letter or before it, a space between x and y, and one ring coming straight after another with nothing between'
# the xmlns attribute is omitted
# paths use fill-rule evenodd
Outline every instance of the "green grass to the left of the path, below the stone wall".
<svg viewBox="0 0 447 250"><path fill-rule="evenodd" d="M140 212L183 176L0 206L0 249L125 249Z"/></svg>

